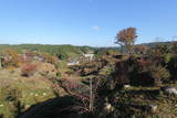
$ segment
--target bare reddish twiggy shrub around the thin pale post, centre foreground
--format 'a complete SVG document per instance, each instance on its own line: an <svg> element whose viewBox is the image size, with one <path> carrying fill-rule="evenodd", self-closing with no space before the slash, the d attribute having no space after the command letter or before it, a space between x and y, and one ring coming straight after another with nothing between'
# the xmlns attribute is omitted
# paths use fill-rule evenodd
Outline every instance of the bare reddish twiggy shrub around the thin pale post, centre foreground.
<svg viewBox="0 0 177 118"><path fill-rule="evenodd" d="M70 78L52 78L54 89L62 87L70 96L79 101L71 106L72 109L77 109L79 114L94 114L101 104L100 90L103 88L103 81L100 78L85 78L82 83L77 79ZM98 101L98 103L97 103Z"/></svg>

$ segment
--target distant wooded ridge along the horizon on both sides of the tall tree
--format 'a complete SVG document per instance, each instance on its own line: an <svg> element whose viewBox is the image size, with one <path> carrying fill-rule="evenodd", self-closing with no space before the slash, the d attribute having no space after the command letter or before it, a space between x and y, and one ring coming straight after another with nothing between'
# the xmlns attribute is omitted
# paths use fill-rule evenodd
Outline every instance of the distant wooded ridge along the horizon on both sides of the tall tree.
<svg viewBox="0 0 177 118"><path fill-rule="evenodd" d="M177 41L168 41L168 42L150 42L150 43L142 43L143 45L146 45L148 47L155 47L158 44L167 44L171 45L173 42ZM136 45L142 45L142 44L136 44ZM94 46L76 46L76 45L71 45L71 44L62 44L62 45L53 45L53 44L0 44L0 52L6 51L6 50L15 50L18 52L22 50L30 50L30 51L40 51L40 52L46 52L50 54L65 54L65 55L80 55L83 53L91 53L97 50L115 50L119 51L118 45L117 46L112 46L112 47L94 47Z"/></svg>

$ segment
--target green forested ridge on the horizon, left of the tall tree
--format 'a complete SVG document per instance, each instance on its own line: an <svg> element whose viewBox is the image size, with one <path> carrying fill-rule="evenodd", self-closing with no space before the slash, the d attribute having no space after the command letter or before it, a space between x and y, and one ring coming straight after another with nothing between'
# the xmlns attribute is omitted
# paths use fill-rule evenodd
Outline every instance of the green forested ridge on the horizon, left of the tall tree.
<svg viewBox="0 0 177 118"><path fill-rule="evenodd" d="M74 46L74 45L50 45L50 44L18 44L18 45L9 45L9 44L0 44L0 52L4 52L7 50L13 50L17 52L22 52L24 50L35 51L35 52L44 52L51 55L59 56L62 60L67 57L74 57L81 55L83 53L94 52L95 49L91 46Z"/></svg>

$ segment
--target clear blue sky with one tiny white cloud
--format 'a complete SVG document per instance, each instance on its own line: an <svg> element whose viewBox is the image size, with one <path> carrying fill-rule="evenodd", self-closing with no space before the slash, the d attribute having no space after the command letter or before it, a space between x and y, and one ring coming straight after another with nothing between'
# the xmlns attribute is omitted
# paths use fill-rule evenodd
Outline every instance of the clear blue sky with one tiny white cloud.
<svg viewBox="0 0 177 118"><path fill-rule="evenodd" d="M0 0L0 44L116 46L137 29L136 43L177 37L177 0ZM160 40L159 40L160 39Z"/></svg>

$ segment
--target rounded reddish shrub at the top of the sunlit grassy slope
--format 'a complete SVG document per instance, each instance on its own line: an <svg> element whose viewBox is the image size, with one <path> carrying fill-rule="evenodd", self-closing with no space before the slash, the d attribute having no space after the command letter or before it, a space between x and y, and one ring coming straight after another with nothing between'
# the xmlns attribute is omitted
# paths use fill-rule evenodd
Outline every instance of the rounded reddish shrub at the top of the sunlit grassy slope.
<svg viewBox="0 0 177 118"><path fill-rule="evenodd" d="M22 76L31 76L35 73L37 65L35 64L24 64L21 68Z"/></svg>

